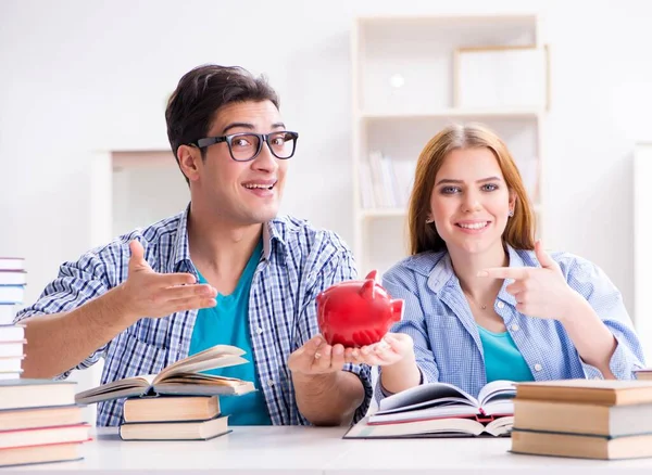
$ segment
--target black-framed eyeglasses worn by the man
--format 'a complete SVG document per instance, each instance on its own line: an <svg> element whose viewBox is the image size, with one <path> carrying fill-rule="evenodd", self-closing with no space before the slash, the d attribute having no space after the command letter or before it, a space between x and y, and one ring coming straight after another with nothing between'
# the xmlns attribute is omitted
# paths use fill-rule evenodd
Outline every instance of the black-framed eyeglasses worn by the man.
<svg viewBox="0 0 652 475"><path fill-rule="evenodd" d="M215 143L226 142L233 159L249 162L259 156L263 150L263 142L266 142L272 155L276 158L287 159L294 155L297 139L299 139L299 133L287 130L272 133L243 132L222 137L206 137L192 142L192 145L204 149Z"/></svg>

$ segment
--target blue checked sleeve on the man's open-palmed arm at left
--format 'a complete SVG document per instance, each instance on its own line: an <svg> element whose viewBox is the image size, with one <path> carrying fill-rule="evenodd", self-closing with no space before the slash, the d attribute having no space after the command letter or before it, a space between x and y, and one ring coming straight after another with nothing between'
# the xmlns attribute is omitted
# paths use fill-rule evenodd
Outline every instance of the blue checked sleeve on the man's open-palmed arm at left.
<svg viewBox="0 0 652 475"><path fill-rule="evenodd" d="M64 262L59 275L50 282L38 300L16 313L14 323L29 317L52 314L73 310L104 294L110 287L104 264L92 253L84 255L76 262ZM75 368L55 376L67 377L73 370L83 370L95 364L103 355L106 345L89 355Z"/></svg>

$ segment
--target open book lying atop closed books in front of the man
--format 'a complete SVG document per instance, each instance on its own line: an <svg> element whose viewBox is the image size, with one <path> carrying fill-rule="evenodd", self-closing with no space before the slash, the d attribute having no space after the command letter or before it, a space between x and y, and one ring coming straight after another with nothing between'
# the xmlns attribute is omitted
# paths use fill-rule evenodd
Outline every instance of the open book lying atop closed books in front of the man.
<svg viewBox="0 0 652 475"><path fill-rule="evenodd" d="M201 371L247 363L242 358L243 354L243 350L235 346L216 345L164 368L159 374L127 377L85 390L75 396L75 401L90 405L137 396L241 395L255 390L253 383L203 374Z"/></svg>

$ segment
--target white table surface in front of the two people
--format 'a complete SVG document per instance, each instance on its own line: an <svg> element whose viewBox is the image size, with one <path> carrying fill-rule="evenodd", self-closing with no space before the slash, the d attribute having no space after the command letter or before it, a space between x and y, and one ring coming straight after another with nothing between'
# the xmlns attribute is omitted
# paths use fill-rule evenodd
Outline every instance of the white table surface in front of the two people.
<svg viewBox="0 0 652 475"><path fill-rule="evenodd" d="M123 441L97 429L79 462L0 468L83 473L249 474L652 474L652 459L598 461L519 455L510 439L344 440L343 427L234 427L206 441Z"/></svg>

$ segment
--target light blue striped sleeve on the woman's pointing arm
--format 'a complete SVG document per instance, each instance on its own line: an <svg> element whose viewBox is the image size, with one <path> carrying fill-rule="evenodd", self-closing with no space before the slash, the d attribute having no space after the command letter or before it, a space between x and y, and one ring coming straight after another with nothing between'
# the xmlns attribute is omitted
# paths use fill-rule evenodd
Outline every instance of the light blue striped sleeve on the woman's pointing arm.
<svg viewBox="0 0 652 475"><path fill-rule="evenodd" d="M644 368L644 357L623 296L609 277L592 262L578 259L568 273L568 285L581 294L616 338L610 370L618 380L635 378ZM581 358L580 358L581 361ZM586 377L603 377L601 371L581 361Z"/></svg>

